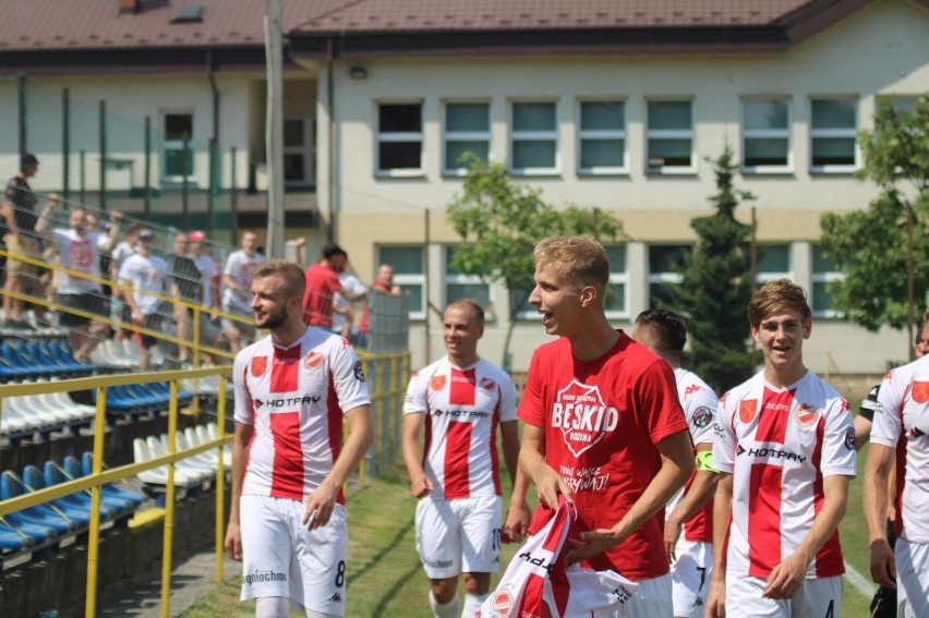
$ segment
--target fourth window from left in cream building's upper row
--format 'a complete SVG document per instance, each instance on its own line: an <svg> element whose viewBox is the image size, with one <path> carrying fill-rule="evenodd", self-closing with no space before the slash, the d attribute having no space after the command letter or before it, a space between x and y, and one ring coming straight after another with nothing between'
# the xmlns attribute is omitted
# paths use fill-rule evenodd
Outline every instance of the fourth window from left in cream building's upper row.
<svg viewBox="0 0 929 618"><path fill-rule="evenodd" d="M578 132L578 171L617 173L626 167L626 104L582 101Z"/></svg>

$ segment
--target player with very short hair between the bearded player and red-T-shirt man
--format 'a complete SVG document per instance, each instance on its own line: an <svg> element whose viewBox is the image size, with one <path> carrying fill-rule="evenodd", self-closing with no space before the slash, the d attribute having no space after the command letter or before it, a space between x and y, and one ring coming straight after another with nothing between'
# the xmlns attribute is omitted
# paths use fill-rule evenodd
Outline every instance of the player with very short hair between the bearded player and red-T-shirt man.
<svg viewBox="0 0 929 618"><path fill-rule="evenodd" d="M448 355L417 372L403 404L403 462L417 505L417 550L432 583L436 618L459 615L458 575L464 580L460 615L473 617L499 570L502 499L496 429L512 481L503 531L521 540L529 525L527 480L518 471L516 387L503 369L478 355L484 310L455 301L443 316ZM425 448L420 440L425 428Z"/></svg>

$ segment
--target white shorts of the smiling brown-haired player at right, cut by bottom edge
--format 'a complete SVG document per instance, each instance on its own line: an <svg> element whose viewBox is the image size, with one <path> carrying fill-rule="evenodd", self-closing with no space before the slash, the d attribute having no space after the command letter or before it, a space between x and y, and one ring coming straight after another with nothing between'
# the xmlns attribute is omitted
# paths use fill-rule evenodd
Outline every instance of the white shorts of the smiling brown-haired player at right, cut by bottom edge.
<svg viewBox="0 0 929 618"><path fill-rule="evenodd" d="M767 578L726 573L726 616L752 618L838 618L845 582L842 575L804 580L793 598L764 598Z"/></svg>

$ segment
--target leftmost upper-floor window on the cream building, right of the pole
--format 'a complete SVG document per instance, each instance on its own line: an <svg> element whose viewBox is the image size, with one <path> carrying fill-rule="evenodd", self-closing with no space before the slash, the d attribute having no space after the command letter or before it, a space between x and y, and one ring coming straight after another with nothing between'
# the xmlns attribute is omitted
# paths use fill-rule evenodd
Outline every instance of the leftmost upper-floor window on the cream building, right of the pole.
<svg viewBox="0 0 929 618"><path fill-rule="evenodd" d="M377 106L377 173L422 173L423 133L421 104Z"/></svg>

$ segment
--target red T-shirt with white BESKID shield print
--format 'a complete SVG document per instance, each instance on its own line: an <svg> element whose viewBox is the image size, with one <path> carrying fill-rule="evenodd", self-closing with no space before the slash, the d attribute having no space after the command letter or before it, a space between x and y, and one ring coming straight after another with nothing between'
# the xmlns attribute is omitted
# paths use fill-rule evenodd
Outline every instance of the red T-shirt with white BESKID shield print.
<svg viewBox="0 0 929 618"><path fill-rule="evenodd" d="M545 428L545 460L571 487L590 530L623 519L661 468L654 445L687 431L671 366L622 330L606 354L586 363L564 338L535 350L518 415ZM552 513L540 505L530 532ZM664 512L590 566L632 581L667 573Z"/></svg>

